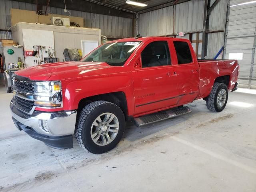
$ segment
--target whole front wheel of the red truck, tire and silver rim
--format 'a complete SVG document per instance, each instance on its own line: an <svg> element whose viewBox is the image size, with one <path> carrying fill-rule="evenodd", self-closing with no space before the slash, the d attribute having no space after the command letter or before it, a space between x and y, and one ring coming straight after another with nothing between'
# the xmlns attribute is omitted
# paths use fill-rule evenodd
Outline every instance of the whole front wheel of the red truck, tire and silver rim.
<svg viewBox="0 0 256 192"><path fill-rule="evenodd" d="M78 145L94 154L112 150L121 140L125 129L122 110L111 102L96 101L85 106L77 123Z"/></svg>

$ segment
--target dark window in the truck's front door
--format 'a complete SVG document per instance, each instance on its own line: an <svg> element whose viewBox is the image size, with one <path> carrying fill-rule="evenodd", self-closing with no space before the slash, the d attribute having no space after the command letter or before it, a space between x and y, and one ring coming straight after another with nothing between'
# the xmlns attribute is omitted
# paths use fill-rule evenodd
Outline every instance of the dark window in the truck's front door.
<svg viewBox="0 0 256 192"><path fill-rule="evenodd" d="M170 51L167 41L154 41L141 53L142 67L170 65Z"/></svg>

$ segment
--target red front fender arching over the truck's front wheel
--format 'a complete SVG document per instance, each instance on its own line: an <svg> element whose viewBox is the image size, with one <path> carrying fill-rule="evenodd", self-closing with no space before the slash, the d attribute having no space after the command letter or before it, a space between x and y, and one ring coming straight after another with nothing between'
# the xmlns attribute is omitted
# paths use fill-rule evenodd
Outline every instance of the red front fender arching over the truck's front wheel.
<svg viewBox="0 0 256 192"><path fill-rule="evenodd" d="M80 100L111 92L124 92L127 100L128 115L134 112L134 96L130 72L107 74L90 78L77 78L62 82L65 89L63 97L64 110L76 110Z"/></svg>

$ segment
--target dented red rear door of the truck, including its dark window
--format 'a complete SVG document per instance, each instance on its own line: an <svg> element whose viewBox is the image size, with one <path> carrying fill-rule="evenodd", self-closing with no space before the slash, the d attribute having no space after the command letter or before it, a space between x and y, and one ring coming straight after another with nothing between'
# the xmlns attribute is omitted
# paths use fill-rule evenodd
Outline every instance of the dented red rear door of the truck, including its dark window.
<svg viewBox="0 0 256 192"><path fill-rule="evenodd" d="M177 91L179 99L177 104L192 102L198 95L200 68L194 54L192 45L188 40L172 40L174 47L175 64L177 67Z"/></svg>

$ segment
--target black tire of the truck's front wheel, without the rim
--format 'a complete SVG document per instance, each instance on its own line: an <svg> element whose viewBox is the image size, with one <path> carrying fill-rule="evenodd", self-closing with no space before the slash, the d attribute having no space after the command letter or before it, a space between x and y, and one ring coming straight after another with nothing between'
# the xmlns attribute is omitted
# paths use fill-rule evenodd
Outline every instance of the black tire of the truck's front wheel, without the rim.
<svg viewBox="0 0 256 192"><path fill-rule="evenodd" d="M103 113L112 113L118 118L119 131L109 144L99 146L94 143L91 137L91 126L94 120ZM81 113L75 130L75 138L78 145L93 154L102 154L112 150L120 142L125 130L125 118L122 110L114 103L107 101L95 101L86 105Z"/></svg>

